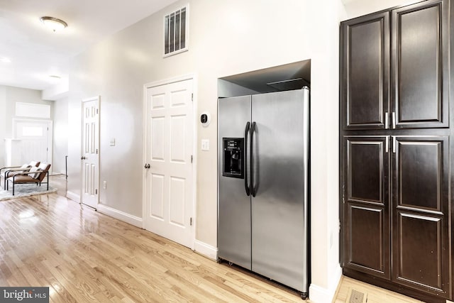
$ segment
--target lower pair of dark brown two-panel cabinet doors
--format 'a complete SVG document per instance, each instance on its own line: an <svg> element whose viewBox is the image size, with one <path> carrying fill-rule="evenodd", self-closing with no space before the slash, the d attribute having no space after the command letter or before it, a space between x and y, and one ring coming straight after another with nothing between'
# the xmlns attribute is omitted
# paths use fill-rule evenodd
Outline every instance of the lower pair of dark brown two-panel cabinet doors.
<svg viewBox="0 0 454 303"><path fill-rule="evenodd" d="M448 136L343 136L343 268L450 295Z"/></svg>

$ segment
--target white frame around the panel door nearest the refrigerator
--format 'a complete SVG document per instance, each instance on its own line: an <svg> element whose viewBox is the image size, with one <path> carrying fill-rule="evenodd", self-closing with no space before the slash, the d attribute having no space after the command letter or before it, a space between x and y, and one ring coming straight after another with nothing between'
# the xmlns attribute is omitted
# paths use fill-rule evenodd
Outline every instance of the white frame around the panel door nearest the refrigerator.
<svg viewBox="0 0 454 303"><path fill-rule="evenodd" d="M148 113L148 106L147 106L147 89L153 88L153 87L159 87L161 85L167 85L167 84L172 84L175 82L182 82L184 80L189 80L192 79L192 114L193 114L193 121L192 121L192 132L194 136L192 137L192 155L193 155L193 161L192 161L192 218L194 228L192 228L192 247L191 249L194 250L194 245L196 241L196 227L197 227L197 219L196 219L196 197L197 197L197 182L196 182L196 176L197 176L197 79L196 75L194 74L187 74L187 75L182 75L179 77L172 77L168 79L162 79L162 80L157 80L155 82L149 82L143 84L143 151L142 151L142 163L145 164L145 161L147 160L147 145L145 144L147 142L147 113ZM142 228L145 229L145 209L146 209L146 177L147 177L147 172L144 169L142 171Z"/></svg>

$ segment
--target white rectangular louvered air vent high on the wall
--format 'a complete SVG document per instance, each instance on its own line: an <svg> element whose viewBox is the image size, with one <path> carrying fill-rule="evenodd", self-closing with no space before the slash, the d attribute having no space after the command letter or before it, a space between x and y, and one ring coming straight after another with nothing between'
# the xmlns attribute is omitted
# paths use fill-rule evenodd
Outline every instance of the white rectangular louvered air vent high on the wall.
<svg viewBox="0 0 454 303"><path fill-rule="evenodd" d="M189 4L164 17L164 57L188 50Z"/></svg>

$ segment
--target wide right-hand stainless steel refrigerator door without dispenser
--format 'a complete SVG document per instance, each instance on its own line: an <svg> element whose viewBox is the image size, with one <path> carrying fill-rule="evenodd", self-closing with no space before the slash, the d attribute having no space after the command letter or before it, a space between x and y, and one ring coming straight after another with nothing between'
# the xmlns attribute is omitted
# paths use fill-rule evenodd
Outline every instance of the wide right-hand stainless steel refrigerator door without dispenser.
<svg viewBox="0 0 454 303"><path fill-rule="evenodd" d="M308 89L252 97L252 270L301 292L307 292L308 102Z"/></svg>

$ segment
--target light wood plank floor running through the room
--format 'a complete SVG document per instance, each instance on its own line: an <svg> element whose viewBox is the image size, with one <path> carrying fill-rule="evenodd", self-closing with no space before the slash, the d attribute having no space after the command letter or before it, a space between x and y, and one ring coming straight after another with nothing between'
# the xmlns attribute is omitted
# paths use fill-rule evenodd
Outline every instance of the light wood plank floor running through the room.
<svg viewBox="0 0 454 303"><path fill-rule="evenodd" d="M66 199L64 176L50 182L57 193L0 202L1 286L50 287L51 302L302 302L291 290ZM368 303L419 302L348 277L333 302L346 302L350 288L367 292Z"/></svg>

